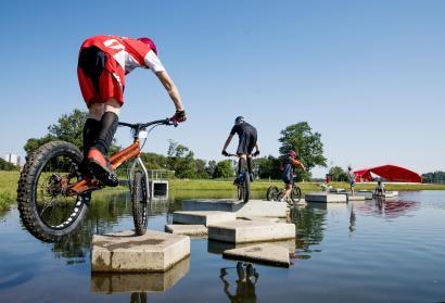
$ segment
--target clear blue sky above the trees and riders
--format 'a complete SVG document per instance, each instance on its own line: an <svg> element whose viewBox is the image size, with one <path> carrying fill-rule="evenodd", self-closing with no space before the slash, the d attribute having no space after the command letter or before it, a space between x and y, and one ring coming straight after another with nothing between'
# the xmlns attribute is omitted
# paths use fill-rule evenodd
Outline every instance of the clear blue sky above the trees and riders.
<svg viewBox="0 0 445 303"><path fill-rule="evenodd" d="M152 37L189 121L156 129L198 157L220 160L237 115L258 129L263 154L307 121L328 164L393 163L445 171L445 1L8 1L0 10L0 154L24 154L63 113L85 109L78 48L98 34ZM169 116L148 71L127 77L122 121ZM122 146L130 141L120 129ZM231 150L236 149L234 142ZM314 169L322 176L326 168Z"/></svg>

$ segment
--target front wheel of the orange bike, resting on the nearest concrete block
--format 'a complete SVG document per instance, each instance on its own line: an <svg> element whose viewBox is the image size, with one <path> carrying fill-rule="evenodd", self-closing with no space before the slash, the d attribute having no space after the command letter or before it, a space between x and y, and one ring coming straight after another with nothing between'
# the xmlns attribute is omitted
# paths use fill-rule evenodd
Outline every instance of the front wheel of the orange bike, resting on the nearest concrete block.
<svg viewBox="0 0 445 303"><path fill-rule="evenodd" d="M142 172L137 171L132 181L131 210L135 222L136 235L142 236L147 231L149 223L149 210L147 203L147 181Z"/></svg>

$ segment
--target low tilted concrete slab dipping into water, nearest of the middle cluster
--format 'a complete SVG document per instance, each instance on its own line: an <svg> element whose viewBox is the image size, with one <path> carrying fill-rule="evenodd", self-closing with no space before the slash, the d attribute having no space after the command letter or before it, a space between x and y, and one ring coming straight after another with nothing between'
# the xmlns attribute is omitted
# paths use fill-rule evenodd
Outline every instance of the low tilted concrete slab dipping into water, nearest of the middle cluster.
<svg viewBox="0 0 445 303"><path fill-rule="evenodd" d="M280 245L269 243L227 250L223 253L223 257L282 267L289 267L290 265L289 251Z"/></svg>

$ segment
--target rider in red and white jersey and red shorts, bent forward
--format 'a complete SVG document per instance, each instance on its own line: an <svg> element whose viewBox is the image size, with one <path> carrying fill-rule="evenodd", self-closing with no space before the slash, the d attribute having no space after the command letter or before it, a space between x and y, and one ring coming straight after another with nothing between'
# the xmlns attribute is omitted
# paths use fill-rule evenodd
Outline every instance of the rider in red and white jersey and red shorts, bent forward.
<svg viewBox="0 0 445 303"><path fill-rule="evenodd" d="M89 110L84 126L84 164L109 186L117 185L117 176L105 154L124 104L125 75L136 67L151 70L163 84L176 108L171 118L187 119L179 91L150 38L100 35L86 39L80 47L77 67L80 90Z"/></svg>

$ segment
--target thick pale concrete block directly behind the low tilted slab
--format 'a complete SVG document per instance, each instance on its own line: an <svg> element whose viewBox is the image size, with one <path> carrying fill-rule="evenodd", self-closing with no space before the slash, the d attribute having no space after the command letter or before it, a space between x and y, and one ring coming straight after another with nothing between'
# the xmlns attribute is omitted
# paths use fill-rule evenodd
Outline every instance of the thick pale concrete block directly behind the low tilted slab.
<svg viewBox="0 0 445 303"><path fill-rule="evenodd" d="M233 220L208 226L208 239L231 243L295 238L295 225L259 220Z"/></svg>

